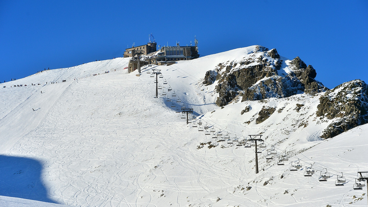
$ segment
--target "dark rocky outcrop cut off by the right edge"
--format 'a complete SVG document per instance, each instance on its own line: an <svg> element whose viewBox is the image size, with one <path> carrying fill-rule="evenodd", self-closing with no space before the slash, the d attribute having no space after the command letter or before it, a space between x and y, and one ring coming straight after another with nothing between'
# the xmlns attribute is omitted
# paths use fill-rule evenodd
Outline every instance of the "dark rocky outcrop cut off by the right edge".
<svg viewBox="0 0 368 207"><path fill-rule="evenodd" d="M319 101L316 115L336 118L323 131L322 139L368 123L368 85L364 81L357 79L336 86L321 96Z"/></svg>

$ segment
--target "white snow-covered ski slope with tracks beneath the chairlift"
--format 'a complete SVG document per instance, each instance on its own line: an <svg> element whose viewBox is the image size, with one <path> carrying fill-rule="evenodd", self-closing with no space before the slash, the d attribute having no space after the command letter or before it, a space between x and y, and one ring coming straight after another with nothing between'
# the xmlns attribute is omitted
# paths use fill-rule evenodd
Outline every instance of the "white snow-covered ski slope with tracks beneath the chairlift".
<svg viewBox="0 0 368 207"><path fill-rule="evenodd" d="M368 125L320 140L333 121L315 115L321 94L213 104L215 84L201 84L205 72L254 47L144 67L140 76L123 69L129 58L115 58L1 83L0 205L367 206L367 188L353 184L357 171L368 171ZM163 75L158 99L152 69ZM14 87L20 84L27 86ZM255 124L263 106L276 111ZM239 140L261 133L259 173L254 147L217 142L186 124L176 113L181 107L193 108L192 122L215 133ZM268 150L277 153L272 160ZM283 154L288 161L277 165ZM302 167L290 171L297 162ZM315 174L305 177L311 164ZM331 177L319 182L326 171ZM335 186L341 172L346 182Z"/></svg>

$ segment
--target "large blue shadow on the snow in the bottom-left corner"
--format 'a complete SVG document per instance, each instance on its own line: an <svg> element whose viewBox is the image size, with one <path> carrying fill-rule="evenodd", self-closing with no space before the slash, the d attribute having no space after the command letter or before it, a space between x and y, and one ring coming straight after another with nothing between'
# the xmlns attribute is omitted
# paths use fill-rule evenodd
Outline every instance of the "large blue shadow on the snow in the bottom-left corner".
<svg viewBox="0 0 368 207"><path fill-rule="evenodd" d="M0 195L57 203L48 196L41 171L38 160L0 155Z"/></svg>

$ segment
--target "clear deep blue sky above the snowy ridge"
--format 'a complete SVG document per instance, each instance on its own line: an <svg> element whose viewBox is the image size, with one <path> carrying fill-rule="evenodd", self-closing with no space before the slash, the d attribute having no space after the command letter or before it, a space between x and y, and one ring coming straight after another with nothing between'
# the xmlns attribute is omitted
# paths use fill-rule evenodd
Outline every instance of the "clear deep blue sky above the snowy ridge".
<svg viewBox="0 0 368 207"><path fill-rule="evenodd" d="M194 44L202 56L259 44L299 56L328 88L368 83L368 1L0 0L0 81L122 57L127 46Z"/></svg>

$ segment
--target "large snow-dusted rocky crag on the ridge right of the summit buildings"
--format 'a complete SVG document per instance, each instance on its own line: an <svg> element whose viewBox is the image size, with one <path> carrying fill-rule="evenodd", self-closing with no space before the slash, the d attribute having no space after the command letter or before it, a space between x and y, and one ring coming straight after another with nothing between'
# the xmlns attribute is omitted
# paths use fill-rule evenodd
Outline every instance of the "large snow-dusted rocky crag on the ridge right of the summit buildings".
<svg viewBox="0 0 368 207"><path fill-rule="evenodd" d="M292 72L285 74L281 70L279 74L282 64L276 49L256 46L243 60L219 63L212 72L207 71L203 84L210 85L218 81L217 106L227 105L239 94L245 101L283 98L300 93L314 95L328 90L314 79L317 75L315 69L311 65L307 66L299 57L287 62Z"/></svg>

